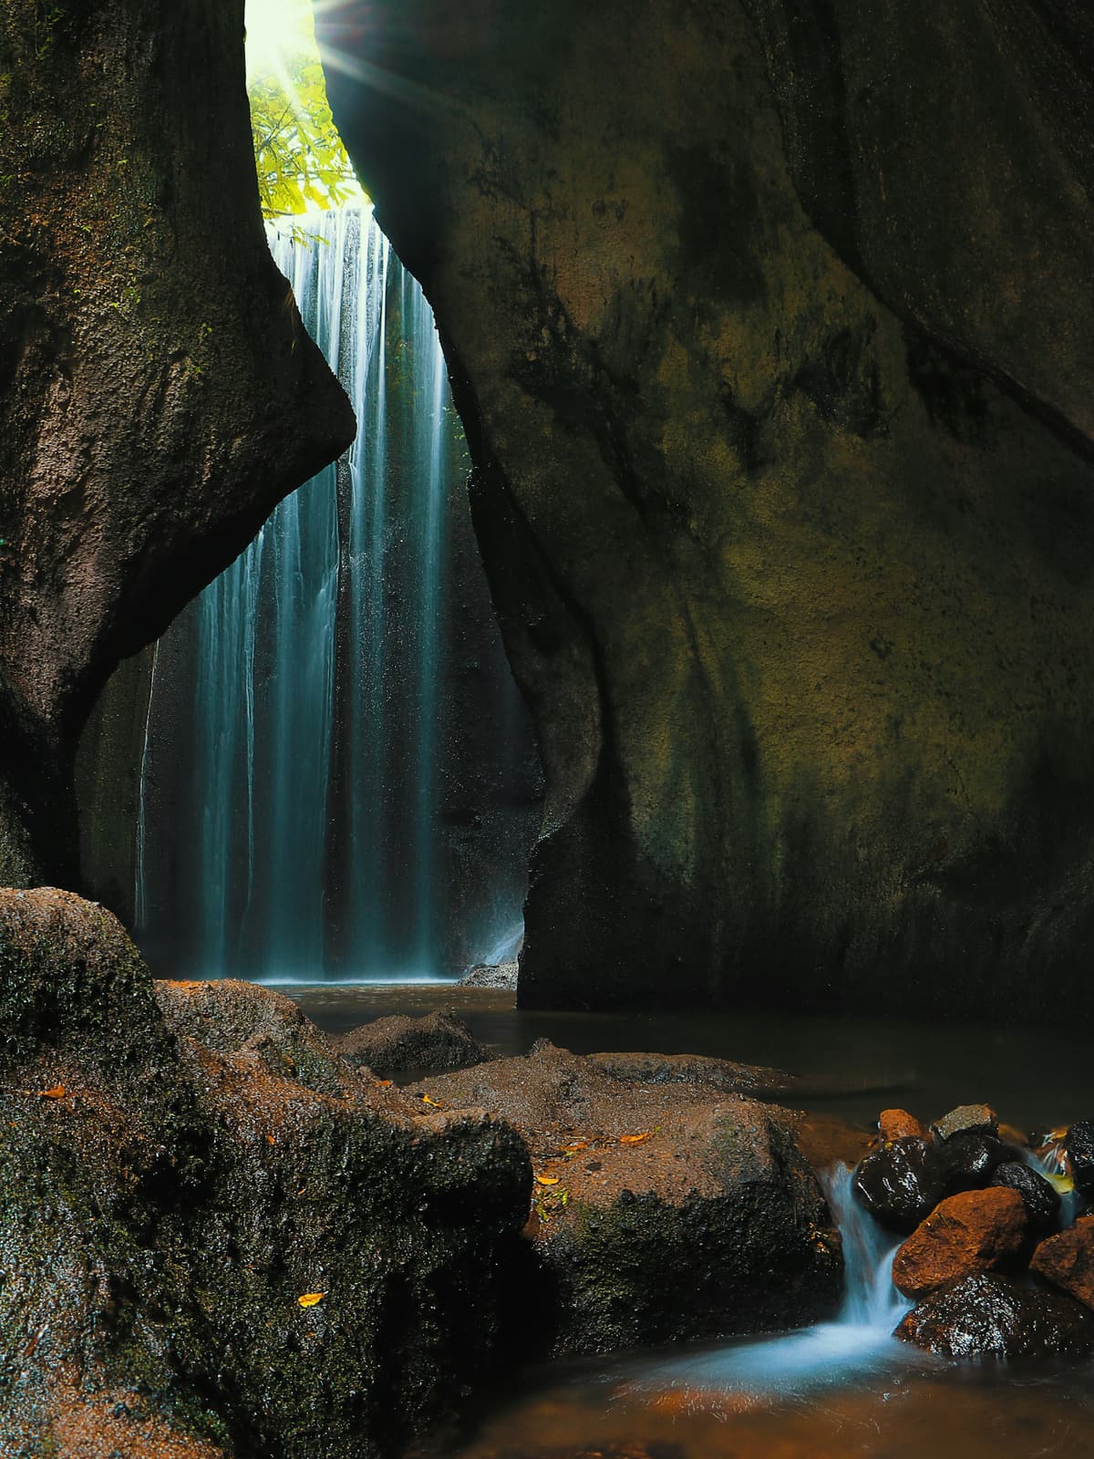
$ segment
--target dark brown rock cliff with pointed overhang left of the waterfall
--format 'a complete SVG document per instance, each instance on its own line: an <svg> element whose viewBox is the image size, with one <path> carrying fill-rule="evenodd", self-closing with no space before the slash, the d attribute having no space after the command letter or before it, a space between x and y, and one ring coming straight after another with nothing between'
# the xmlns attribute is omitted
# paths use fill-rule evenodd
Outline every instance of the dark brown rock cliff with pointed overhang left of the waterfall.
<svg viewBox="0 0 1094 1459"><path fill-rule="evenodd" d="M0 883L73 884L99 687L353 435L263 236L242 32L0 18Z"/></svg>

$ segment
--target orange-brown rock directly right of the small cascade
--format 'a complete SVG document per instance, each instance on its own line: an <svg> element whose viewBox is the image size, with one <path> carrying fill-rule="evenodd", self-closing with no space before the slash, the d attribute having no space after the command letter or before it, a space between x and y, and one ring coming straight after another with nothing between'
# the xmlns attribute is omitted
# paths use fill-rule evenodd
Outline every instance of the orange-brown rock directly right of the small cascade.
<svg viewBox="0 0 1094 1459"><path fill-rule="evenodd" d="M1030 1228L1017 1191L963 1191L935 1207L897 1252L893 1281L906 1297L1005 1265L1021 1252Z"/></svg>

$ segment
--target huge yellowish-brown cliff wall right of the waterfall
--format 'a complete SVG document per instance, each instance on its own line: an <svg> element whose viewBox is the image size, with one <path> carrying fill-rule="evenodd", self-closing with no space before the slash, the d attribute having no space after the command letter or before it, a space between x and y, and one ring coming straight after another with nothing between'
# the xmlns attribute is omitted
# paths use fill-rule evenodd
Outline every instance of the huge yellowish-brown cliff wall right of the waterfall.
<svg viewBox="0 0 1094 1459"><path fill-rule="evenodd" d="M319 19L537 716L525 1005L1094 1011L1091 22L967 10Z"/></svg>

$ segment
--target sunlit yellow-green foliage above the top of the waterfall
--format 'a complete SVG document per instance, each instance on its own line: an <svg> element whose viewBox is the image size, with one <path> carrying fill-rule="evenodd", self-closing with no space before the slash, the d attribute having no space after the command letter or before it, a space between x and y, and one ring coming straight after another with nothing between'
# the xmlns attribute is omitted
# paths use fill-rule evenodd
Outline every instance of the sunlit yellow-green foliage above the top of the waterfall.
<svg viewBox="0 0 1094 1459"><path fill-rule="evenodd" d="M302 39L299 54L254 74L248 95L264 217L295 219L363 196L327 105L314 41Z"/></svg>

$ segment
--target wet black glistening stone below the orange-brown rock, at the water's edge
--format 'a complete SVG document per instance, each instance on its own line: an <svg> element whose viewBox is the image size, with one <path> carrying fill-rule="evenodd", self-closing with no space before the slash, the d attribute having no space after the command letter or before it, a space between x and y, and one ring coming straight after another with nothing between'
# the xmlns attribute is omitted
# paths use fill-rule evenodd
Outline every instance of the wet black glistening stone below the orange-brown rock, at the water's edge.
<svg viewBox="0 0 1094 1459"><path fill-rule="evenodd" d="M925 1297L896 1336L951 1358L1082 1358L1094 1352L1094 1315L1060 1293L977 1272Z"/></svg>

